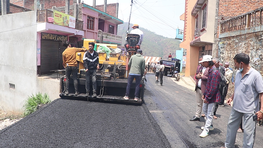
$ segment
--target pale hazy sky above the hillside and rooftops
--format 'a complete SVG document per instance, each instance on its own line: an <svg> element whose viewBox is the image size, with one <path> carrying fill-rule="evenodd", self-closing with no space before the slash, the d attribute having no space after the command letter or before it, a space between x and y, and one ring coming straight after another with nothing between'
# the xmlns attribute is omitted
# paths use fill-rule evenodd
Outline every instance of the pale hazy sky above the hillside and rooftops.
<svg viewBox="0 0 263 148"><path fill-rule="evenodd" d="M92 6L93 0L83 0L85 4ZM107 0L107 4L119 3L118 19L129 22L131 12L131 24L138 24L158 35L167 38L176 37L176 29L184 30L184 21L180 16L184 13L185 0ZM96 0L96 5L103 5L104 0ZM130 31L132 30L130 25ZM128 30L126 25L124 30Z"/></svg>

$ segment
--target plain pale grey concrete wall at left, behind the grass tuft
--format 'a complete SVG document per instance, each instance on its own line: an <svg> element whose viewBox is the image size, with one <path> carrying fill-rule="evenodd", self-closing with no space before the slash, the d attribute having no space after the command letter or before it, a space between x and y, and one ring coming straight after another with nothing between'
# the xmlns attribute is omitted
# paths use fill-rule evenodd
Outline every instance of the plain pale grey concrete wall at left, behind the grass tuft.
<svg viewBox="0 0 263 148"><path fill-rule="evenodd" d="M59 82L37 77L36 11L1 15L0 26L0 108L20 113L23 101L36 92L58 98Z"/></svg>

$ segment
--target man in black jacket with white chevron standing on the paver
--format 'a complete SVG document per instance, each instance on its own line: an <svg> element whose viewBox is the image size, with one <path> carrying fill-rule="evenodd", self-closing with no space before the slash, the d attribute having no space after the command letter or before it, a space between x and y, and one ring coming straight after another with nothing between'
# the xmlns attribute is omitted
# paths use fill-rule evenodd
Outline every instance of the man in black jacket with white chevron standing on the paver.
<svg viewBox="0 0 263 148"><path fill-rule="evenodd" d="M95 46L94 42L89 42L89 51L84 53L83 62L85 66L87 95L89 96L89 92L90 92L90 76L91 76L92 87L93 87L92 97L97 97L96 69L99 69L100 65L99 65L99 55L94 50L94 46Z"/></svg>

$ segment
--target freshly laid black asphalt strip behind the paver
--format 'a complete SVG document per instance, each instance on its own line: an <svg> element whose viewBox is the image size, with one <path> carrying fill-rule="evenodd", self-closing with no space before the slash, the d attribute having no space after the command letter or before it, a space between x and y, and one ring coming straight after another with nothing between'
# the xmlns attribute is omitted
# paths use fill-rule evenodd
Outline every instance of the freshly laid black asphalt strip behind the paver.
<svg viewBox="0 0 263 148"><path fill-rule="evenodd" d="M0 147L171 147L145 105L56 99L0 131Z"/></svg>

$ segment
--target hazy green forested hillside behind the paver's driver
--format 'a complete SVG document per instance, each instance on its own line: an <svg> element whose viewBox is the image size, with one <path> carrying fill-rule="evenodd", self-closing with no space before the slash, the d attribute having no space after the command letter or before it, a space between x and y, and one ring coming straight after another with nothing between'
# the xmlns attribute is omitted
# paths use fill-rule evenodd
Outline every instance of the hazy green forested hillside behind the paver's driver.
<svg viewBox="0 0 263 148"><path fill-rule="evenodd" d="M118 35L122 36L122 46L126 43L126 30L128 23L118 25ZM132 25L130 25L131 27ZM176 50L181 50L179 44L181 41L175 40L174 38L166 38L162 35L157 35L155 32L147 30L145 28L139 27L143 32L143 41L141 49L143 51L143 56L157 56L163 59L168 59L168 55L171 53L175 57ZM132 28L130 29L130 31Z"/></svg>

